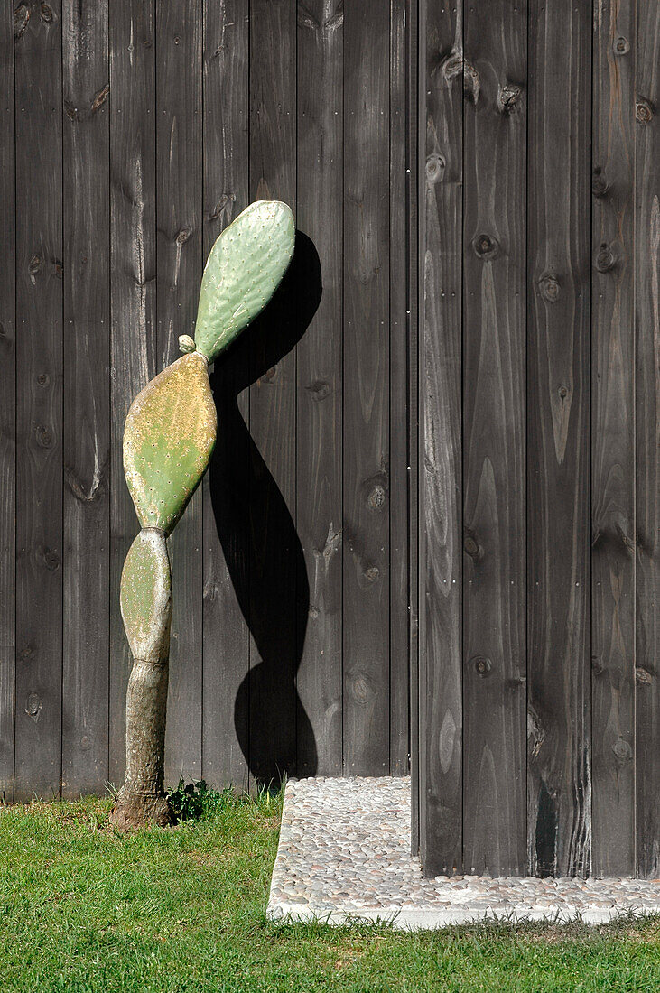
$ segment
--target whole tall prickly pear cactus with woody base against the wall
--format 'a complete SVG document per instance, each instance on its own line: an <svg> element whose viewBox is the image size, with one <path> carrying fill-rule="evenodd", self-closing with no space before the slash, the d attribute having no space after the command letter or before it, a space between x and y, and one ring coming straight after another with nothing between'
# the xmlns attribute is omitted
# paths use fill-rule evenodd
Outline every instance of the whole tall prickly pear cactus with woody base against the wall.
<svg viewBox="0 0 660 993"><path fill-rule="evenodd" d="M124 428L124 473L141 531L121 576L133 656L126 695L126 780L112 823L173 822L164 789L172 572L167 538L203 476L215 442L208 364L263 310L294 250L291 210L257 201L217 238L204 268L195 340L135 398Z"/></svg>

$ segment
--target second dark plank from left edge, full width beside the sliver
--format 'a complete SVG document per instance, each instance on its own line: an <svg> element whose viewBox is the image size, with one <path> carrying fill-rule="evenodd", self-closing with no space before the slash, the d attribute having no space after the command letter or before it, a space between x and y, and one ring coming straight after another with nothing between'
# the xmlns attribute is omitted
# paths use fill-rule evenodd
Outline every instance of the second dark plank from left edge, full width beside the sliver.
<svg viewBox="0 0 660 993"><path fill-rule="evenodd" d="M27 17L27 14L30 17ZM62 764L62 9L23 4L16 81L15 797L59 795Z"/></svg>

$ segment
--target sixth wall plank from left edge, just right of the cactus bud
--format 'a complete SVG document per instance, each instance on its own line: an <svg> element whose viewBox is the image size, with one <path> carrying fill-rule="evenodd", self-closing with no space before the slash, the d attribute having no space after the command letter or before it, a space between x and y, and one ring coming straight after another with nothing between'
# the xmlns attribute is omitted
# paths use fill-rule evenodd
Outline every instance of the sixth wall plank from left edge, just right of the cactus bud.
<svg viewBox="0 0 660 993"><path fill-rule="evenodd" d="M204 3L204 259L220 231L248 203L248 7L248 0ZM246 715L238 716L237 728L234 716L249 669L249 632L236 596L236 587L244 590L247 582L249 444L237 406L247 366L245 350L234 350L210 377L217 440L202 483L202 773L214 786L247 785L247 756L241 751Z"/></svg>

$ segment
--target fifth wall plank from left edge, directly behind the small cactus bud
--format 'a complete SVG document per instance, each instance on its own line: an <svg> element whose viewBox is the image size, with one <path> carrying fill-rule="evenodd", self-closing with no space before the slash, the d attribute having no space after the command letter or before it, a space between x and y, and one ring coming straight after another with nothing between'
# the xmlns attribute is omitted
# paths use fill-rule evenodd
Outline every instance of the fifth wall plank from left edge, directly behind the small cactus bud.
<svg viewBox="0 0 660 993"><path fill-rule="evenodd" d="M156 3L158 366L195 333L201 280L201 0ZM169 541L172 562L166 782L201 776L201 494Z"/></svg>

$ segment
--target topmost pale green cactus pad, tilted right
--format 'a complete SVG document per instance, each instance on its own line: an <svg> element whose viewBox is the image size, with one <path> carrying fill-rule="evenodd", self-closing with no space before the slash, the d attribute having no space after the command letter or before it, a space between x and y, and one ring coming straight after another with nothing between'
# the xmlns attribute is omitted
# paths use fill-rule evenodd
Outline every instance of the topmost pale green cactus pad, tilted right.
<svg viewBox="0 0 660 993"><path fill-rule="evenodd" d="M286 204L258 200L226 227L201 278L195 342L209 362L263 310L294 253L296 225Z"/></svg>

